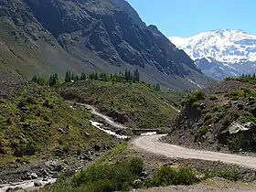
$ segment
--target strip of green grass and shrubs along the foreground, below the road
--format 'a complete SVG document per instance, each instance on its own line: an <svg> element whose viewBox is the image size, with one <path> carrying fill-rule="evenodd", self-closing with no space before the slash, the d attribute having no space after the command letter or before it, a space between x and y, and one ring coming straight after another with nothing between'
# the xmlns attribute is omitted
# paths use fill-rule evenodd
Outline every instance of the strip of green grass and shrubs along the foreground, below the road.
<svg viewBox="0 0 256 192"><path fill-rule="evenodd" d="M231 181L241 178L240 171L231 167L198 172L182 165L162 165L155 169L153 177L142 176L143 171L143 160L123 142L75 176L63 175L43 191L130 191L133 188L193 185L199 182L198 176L203 179L219 176Z"/></svg>

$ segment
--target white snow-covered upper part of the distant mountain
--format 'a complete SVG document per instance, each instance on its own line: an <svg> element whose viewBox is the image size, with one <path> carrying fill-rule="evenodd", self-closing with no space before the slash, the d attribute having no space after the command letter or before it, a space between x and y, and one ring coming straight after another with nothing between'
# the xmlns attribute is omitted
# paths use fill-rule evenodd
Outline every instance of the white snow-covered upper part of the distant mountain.
<svg viewBox="0 0 256 192"><path fill-rule="evenodd" d="M256 35L242 30L219 29L194 37L170 37L191 59L213 58L219 62L256 61Z"/></svg>

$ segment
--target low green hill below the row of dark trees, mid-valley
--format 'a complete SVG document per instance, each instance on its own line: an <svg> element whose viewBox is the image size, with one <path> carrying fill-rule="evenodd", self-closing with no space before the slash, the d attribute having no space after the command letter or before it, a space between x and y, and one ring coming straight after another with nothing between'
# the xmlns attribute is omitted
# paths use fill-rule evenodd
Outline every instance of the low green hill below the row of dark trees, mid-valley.
<svg viewBox="0 0 256 192"><path fill-rule="evenodd" d="M116 112L125 114L129 123L143 128L168 125L176 116L169 100L174 97L172 101L176 102L180 97L174 92L157 92L143 83L112 84L88 80L64 84L59 90L65 99L91 103L110 116Z"/></svg>

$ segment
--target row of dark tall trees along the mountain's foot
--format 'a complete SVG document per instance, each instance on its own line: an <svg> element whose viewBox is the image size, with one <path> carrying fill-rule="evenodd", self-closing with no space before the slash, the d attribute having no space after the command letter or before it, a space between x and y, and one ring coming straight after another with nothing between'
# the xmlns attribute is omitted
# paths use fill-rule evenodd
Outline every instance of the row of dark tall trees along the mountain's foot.
<svg viewBox="0 0 256 192"><path fill-rule="evenodd" d="M124 72L119 73L98 73L98 72L91 72L91 73L84 73L82 72L80 75L75 75L70 70L66 71L65 75L65 82L74 82L79 80L100 80L100 81L112 81L112 83L115 82L123 82L123 83L136 83L141 82L140 81L140 73L138 69L128 70L125 69ZM38 78L37 75L35 75L32 79L33 82L39 84L39 85L48 85L50 87L59 85L59 75L57 73L54 73L49 77L48 80L45 80L43 78ZM142 81L145 83L144 81ZM155 89L156 91L160 91L160 85L159 84L147 84L148 87Z"/></svg>

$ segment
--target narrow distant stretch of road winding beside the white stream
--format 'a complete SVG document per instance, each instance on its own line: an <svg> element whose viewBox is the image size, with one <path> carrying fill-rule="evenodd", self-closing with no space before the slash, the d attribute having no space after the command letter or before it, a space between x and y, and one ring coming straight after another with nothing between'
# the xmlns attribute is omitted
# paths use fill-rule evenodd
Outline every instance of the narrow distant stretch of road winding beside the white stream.
<svg viewBox="0 0 256 192"><path fill-rule="evenodd" d="M74 101L66 101L68 102L69 104L74 104ZM100 112L97 112L96 108L89 105L89 104L84 104L84 103L80 103L80 102L75 102L77 105L80 105L80 106L83 106L87 109L90 109L91 110L91 113L98 116L98 117L101 117L101 119L105 120L106 123L112 125L113 127L115 128L118 128L118 129L128 129L128 127L125 127L123 126L122 124L120 123L115 123L112 121L112 119L110 117L108 117L107 115L104 115L104 114L101 114Z"/></svg>

